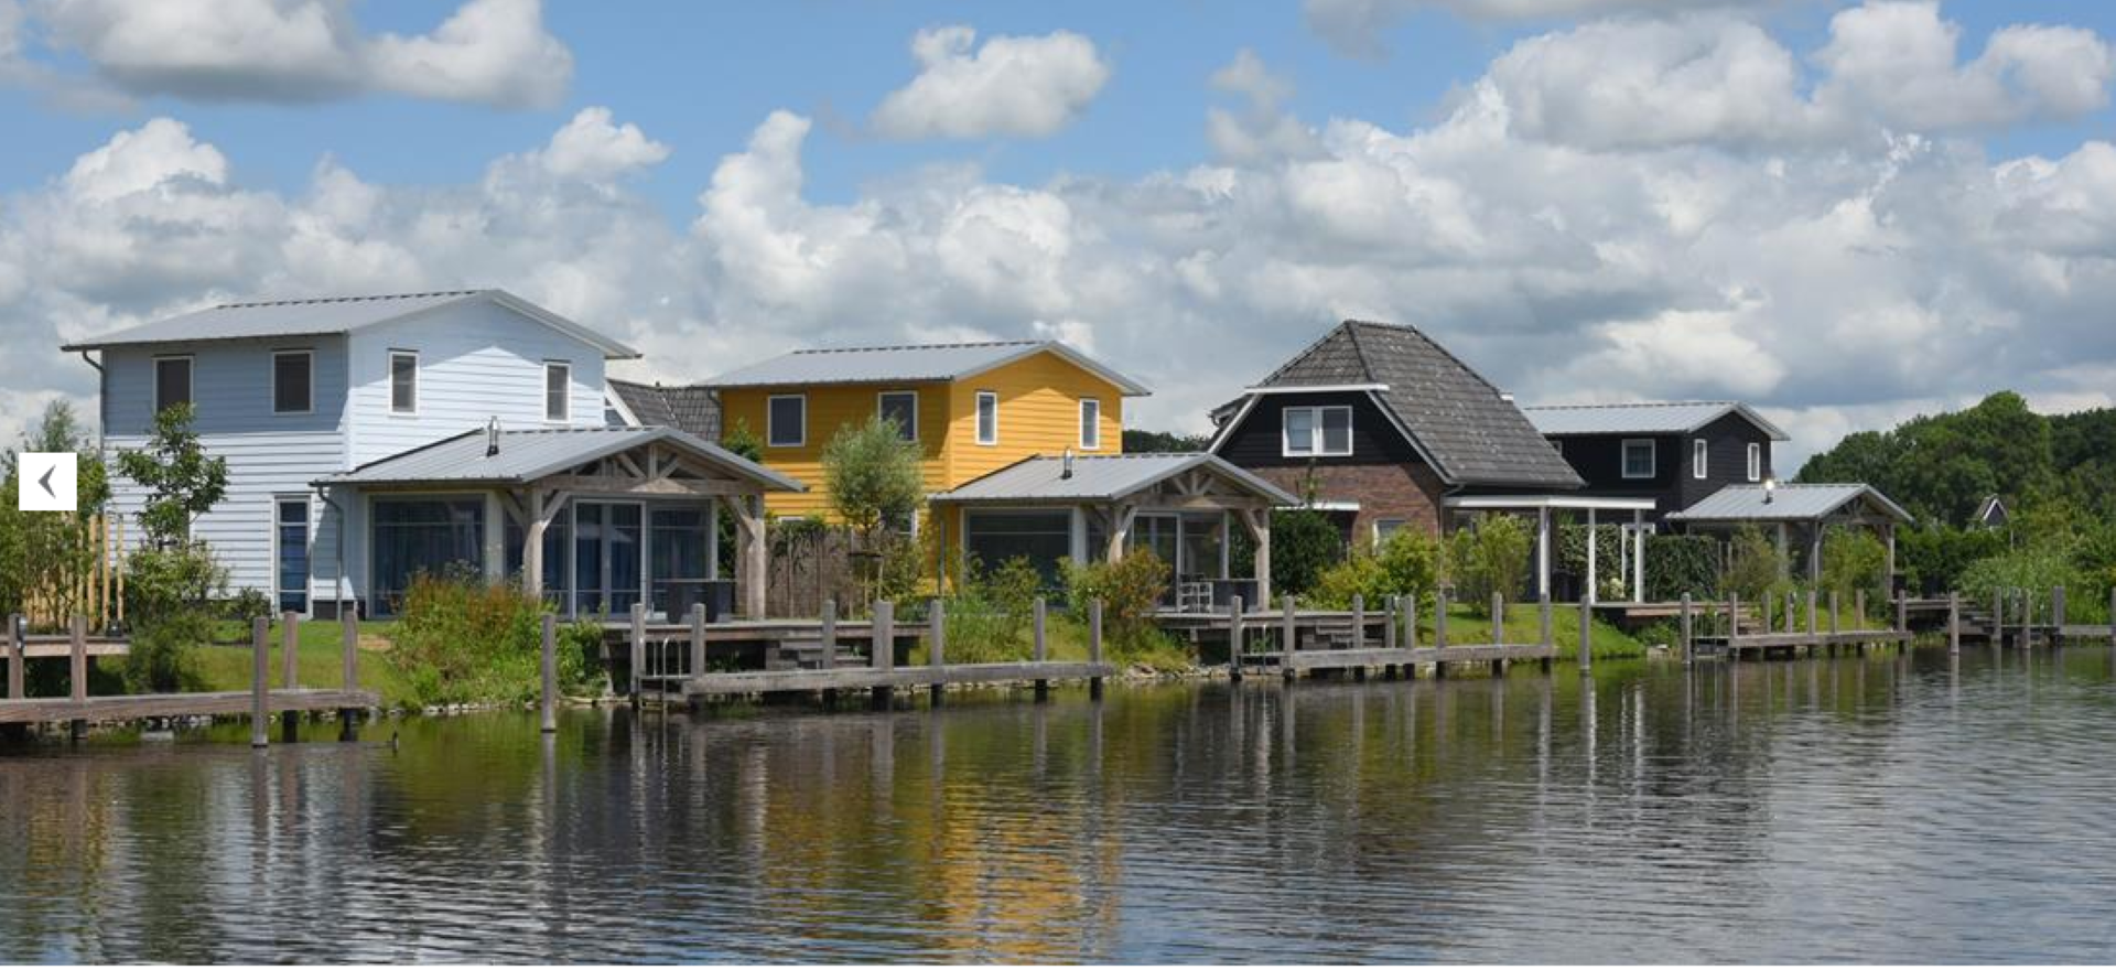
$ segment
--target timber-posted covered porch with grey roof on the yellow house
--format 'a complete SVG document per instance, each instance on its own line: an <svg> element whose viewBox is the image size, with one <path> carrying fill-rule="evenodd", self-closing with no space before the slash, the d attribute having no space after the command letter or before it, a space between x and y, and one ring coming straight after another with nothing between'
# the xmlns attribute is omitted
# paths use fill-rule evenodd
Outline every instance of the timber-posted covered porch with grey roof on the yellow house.
<svg viewBox="0 0 2116 970"><path fill-rule="evenodd" d="M961 553L956 570L1024 557L1056 582L1060 559L1115 561L1151 549L1170 565L1164 601L1176 610L1234 595L1270 601L1270 515L1293 504L1276 485L1204 453L1030 457L933 496L942 549ZM1236 529L1255 549L1251 576L1232 570Z"/></svg>

